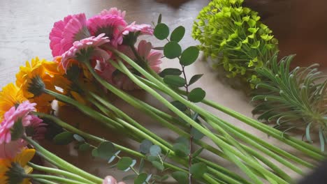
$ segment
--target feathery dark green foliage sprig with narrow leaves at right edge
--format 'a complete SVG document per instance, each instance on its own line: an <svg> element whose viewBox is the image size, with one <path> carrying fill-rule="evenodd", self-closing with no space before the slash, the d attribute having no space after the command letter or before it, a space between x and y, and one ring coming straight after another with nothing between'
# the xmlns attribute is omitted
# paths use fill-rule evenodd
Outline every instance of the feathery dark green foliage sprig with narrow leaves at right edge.
<svg viewBox="0 0 327 184"><path fill-rule="evenodd" d="M305 128L307 141L312 142L310 132L319 130L321 151L327 138L327 78L317 70L317 64L289 70L293 56L286 56L279 63L273 56L266 67L256 68L261 81L253 81L258 89L254 95L259 104L253 114L258 118L274 121L275 128L287 132ZM321 83L319 80L323 79Z"/></svg>

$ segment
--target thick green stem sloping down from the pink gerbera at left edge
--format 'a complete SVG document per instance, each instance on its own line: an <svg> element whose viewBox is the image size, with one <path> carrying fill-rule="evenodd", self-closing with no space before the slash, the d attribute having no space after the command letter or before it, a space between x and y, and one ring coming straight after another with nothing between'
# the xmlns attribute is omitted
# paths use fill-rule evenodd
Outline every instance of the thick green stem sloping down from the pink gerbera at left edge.
<svg viewBox="0 0 327 184"><path fill-rule="evenodd" d="M39 151L42 155L45 155L45 158L52 160L52 162L58 163L61 169L65 169L66 171L71 171L72 173L82 176L83 178L86 178L87 180L92 181L94 183L102 183L103 179L98 178L92 174L89 174L88 172L83 171L78 167L75 167L73 164L70 164L69 162L62 160L57 155L54 155L50 151L43 148L40 144L36 143L36 141L34 141L33 139L29 137L23 137L23 139L27 141L29 144L31 144L31 146L36 148L36 150Z"/></svg>

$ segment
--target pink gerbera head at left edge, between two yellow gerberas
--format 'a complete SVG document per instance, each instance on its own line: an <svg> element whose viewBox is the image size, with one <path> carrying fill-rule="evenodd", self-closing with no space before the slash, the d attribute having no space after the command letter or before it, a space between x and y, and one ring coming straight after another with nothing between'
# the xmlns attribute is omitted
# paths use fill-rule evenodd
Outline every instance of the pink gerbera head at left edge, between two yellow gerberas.
<svg viewBox="0 0 327 184"><path fill-rule="evenodd" d="M0 145L10 143L20 139L24 134L24 127L31 124L32 116L30 112L35 111L36 103L29 100L22 102L18 107L11 107L4 114L3 121L0 124Z"/></svg>

